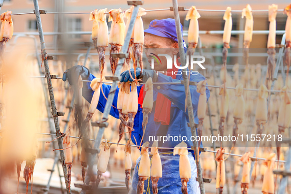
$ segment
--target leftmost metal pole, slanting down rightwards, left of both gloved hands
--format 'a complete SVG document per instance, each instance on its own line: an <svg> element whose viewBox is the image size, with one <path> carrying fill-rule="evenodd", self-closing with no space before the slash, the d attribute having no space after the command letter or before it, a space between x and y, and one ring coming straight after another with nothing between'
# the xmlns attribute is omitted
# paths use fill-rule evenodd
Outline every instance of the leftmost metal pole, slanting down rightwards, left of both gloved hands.
<svg viewBox="0 0 291 194"><path fill-rule="evenodd" d="M52 114L53 114L53 118L54 118L56 134L59 137L61 135L61 131L60 131L60 125L59 125L59 120L58 120L58 113L57 113L57 108L56 108L56 103L55 103L52 81L51 81L51 77L50 77L50 69L49 69L48 60L47 60L47 53L46 53L46 48L45 48L45 43L44 43L44 36L43 36L41 18L40 18L40 13L39 13L38 1L33 0L33 4L34 4L35 17L36 17L36 22L37 22L37 29L38 29L38 33L39 33L41 51L43 53L43 64L44 64L44 69L45 69L48 90L49 90L49 94L50 94ZM58 138L58 144L59 144L59 149L63 149L63 142L62 142L61 138ZM71 194L71 192L69 191L70 186L68 185L68 180L67 180L67 169L66 169L66 165L64 163L65 162L65 155L64 155L63 150L60 150L60 155L61 155L61 161L63 162L63 171L64 171L67 194Z"/></svg>

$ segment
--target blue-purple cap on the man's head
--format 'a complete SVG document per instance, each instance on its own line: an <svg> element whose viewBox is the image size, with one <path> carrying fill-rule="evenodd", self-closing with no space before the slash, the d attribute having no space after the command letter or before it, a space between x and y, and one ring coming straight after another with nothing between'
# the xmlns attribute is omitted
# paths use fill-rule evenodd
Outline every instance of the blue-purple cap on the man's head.
<svg viewBox="0 0 291 194"><path fill-rule="evenodd" d="M180 24L180 26L181 26L181 32L183 34L182 24ZM162 19L162 20L153 20L151 21L149 28L146 29L144 32L161 36L161 37L165 37L165 38L170 38L178 42L176 24L175 24L175 20L172 18L167 18L167 19ZM187 47L186 47L186 43L184 39L183 39L183 46L184 46L184 51L186 53Z"/></svg>

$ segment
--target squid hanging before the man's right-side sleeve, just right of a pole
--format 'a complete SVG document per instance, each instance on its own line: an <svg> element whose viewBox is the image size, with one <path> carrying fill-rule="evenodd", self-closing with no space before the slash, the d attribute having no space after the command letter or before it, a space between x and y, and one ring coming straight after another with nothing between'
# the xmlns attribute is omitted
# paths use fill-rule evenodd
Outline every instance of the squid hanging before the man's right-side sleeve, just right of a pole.
<svg viewBox="0 0 291 194"><path fill-rule="evenodd" d="M200 137L199 142L198 142L198 150L200 148L200 143L201 143L201 136L202 136L202 131L203 131L203 120L206 114L206 102L207 102L206 84L207 84L207 80L205 79L205 80L200 81L196 85L197 92L200 93L199 100L198 100L198 107L197 107L197 117L199 119L198 127L197 127L197 135Z"/></svg>

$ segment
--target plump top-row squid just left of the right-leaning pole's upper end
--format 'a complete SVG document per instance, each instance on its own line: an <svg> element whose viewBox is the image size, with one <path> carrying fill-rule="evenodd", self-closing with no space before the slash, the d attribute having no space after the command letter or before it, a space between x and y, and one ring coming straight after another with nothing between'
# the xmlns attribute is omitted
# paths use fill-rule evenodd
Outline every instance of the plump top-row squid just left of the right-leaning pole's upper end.
<svg viewBox="0 0 291 194"><path fill-rule="evenodd" d="M124 43L126 25L123 20L123 13L121 12L121 8L111 9L109 11L109 15L108 22L112 22L109 33L109 44L111 45L109 58L111 71L114 75L119 58L113 58L111 54L120 52Z"/></svg>

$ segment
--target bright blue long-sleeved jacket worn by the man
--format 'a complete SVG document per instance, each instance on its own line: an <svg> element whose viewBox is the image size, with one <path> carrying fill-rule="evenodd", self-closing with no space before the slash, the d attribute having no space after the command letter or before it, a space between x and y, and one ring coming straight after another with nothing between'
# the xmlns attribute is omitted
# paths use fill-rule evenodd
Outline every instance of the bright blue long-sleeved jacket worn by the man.
<svg viewBox="0 0 291 194"><path fill-rule="evenodd" d="M181 71L181 69L179 69ZM94 75L90 74L88 80L93 80L96 78ZM199 82L201 80L204 80L205 77L202 76L200 73L198 75L191 75L190 81ZM169 76L159 74L157 82L168 82L168 83L174 83L174 82L180 82L180 80L183 80L182 74L176 75L176 79L173 79ZM158 87L159 86L159 87ZM102 89L106 97L108 97L109 91L110 91L111 85L102 84ZM159 88L159 89L158 89ZM139 95L141 86L137 87L137 93ZM199 93L196 92L196 86L190 85L190 91L191 91L191 97L192 97L192 105L193 105L193 111L194 111L194 117L195 117L195 123L198 124L198 118L197 118L197 105L198 105L198 99L199 99ZM118 97L119 88L117 88L113 100L113 106L117 107L117 97ZM160 122L154 121L154 114L155 114L155 107L156 107L156 99L157 94L161 93L165 97L171 100L171 116L170 116L170 124L168 126L161 125ZM92 96L94 94L94 91L92 91L90 87L90 82L88 82L83 87L83 97L91 103ZM206 96L207 100L210 97L210 92L208 90L208 87L206 89ZM101 112L104 111L104 107L106 104L106 99L103 97L102 94L100 94L99 102L97 105L97 109ZM110 115L119 118L118 109L111 107ZM187 143L188 147L193 146L193 143L191 141L191 129L188 127L187 123L189 123L188 118L188 110L184 112L185 110L185 88L182 84L161 84L161 85L154 85L154 105L152 112L149 113L149 120L147 127L145 129L145 135L143 142L149 141L150 145L153 143L152 139L149 139L149 136L166 136L169 137L170 141L162 142L159 141L159 147L175 147L178 143L182 141L182 137L184 137L184 141ZM143 113L142 108L140 108L140 105L138 105L138 111L134 118L134 126L132 131L132 136L135 137L137 144L140 144L143 130L142 130L142 120L143 120ZM179 135L181 135L179 139ZM172 138L173 140L172 140ZM177 141L178 138L178 141ZM132 137L132 142L135 143L134 138ZM163 150L168 151L168 150Z"/></svg>

